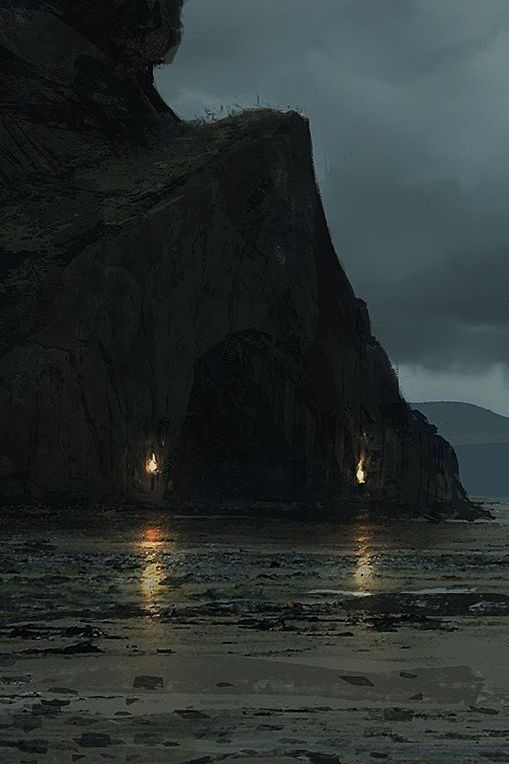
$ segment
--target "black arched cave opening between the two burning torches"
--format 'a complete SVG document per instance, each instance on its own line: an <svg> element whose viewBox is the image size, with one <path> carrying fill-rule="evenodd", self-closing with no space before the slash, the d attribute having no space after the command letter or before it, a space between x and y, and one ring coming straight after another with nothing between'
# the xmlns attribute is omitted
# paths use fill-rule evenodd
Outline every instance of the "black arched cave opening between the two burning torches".
<svg viewBox="0 0 509 764"><path fill-rule="evenodd" d="M277 406L285 375L275 368L271 349L270 338L244 332L196 363L175 469L180 497L295 501L302 496L305 470L287 443Z"/></svg>

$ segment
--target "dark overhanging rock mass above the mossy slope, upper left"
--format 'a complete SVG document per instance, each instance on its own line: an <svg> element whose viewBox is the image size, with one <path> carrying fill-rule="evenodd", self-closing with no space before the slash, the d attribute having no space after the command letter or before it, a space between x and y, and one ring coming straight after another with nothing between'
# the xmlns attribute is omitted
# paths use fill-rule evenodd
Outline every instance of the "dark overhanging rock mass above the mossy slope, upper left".
<svg viewBox="0 0 509 764"><path fill-rule="evenodd" d="M153 67L180 42L183 0L0 0L0 183L70 172L178 120Z"/></svg>

